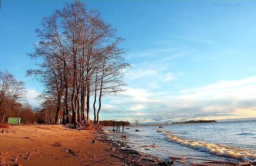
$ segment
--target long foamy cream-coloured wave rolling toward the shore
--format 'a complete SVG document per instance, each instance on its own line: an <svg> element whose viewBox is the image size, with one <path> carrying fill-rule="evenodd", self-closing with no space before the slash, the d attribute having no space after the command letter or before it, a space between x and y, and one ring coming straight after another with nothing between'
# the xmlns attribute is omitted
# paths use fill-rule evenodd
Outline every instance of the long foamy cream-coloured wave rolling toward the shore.
<svg viewBox="0 0 256 166"><path fill-rule="evenodd" d="M157 130L157 132L165 133L167 136L167 141L169 142L181 144L186 147L190 147L202 152L208 152L214 155L220 155L230 158L237 158L240 160L256 161L256 151L253 150L234 148L225 145L217 145L201 141L181 139L177 136L173 136L170 131L164 131L161 129Z"/></svg>

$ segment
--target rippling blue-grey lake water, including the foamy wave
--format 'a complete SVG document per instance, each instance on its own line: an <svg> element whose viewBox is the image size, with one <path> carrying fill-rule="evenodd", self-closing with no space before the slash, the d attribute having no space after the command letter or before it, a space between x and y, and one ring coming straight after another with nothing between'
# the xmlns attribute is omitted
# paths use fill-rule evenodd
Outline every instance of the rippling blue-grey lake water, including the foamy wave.
<svg viewBox="0 0 256 166"><path fill-rule="evenodd" d="M159 158L200 158L218 161L256 161L256 121L132 126L126 142ZM121 133L106 131L117 138ZM140 130L135 132L135 129ZM157 148L141 147L155 144ZM138 148L140 147L140 148ZM148 150L149 149L149 150Z"/></svg>

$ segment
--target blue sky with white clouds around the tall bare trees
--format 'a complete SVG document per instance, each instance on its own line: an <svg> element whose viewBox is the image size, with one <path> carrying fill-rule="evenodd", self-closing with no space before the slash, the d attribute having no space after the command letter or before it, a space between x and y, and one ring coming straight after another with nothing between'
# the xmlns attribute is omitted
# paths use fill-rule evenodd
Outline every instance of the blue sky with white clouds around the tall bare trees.
<svg viewBox="0 0 256 166"><path fill-rule="evenodd" d="M66 0L1 0L0 70L26 83L28 101L42 87L26 78L26 55L43 16ZM256 117L256 2L96 0L117 27L133 68L127 91L106 96L102 118L141 122Z"/></svg>

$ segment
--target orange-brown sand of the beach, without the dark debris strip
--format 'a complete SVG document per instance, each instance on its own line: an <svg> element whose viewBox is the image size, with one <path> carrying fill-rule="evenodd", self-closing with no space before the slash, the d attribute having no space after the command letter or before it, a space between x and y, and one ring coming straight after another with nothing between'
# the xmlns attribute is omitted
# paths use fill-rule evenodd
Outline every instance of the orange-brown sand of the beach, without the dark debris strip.
<svg viewBox="0 0 256 166"><path fill-rule="evenodd" d="M111 147L97 140L94 131L72 130L61 125L12 125L2 130L7 133L0 133L0 159L6 159L9 165L124 165L110 155Z"/></svg>

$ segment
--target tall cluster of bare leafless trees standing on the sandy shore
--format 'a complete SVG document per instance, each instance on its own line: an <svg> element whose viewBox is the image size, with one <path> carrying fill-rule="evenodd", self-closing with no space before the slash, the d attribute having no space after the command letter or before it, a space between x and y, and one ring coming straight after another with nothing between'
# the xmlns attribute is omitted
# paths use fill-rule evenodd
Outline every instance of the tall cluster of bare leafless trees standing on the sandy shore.
<svg viewBox="0 0 256 166"><path fill-rule="evenodd" d="M130 67L119 47L124 41L117 30L103 21L97 10L86 10L79 1L64 5L42 19L36 29L39 42L29 54L38 68L27 71L45 87L38 99L43 110L55 107L55 124L78 120L90 122L90 102L94 123L100 121L104 95L123 91L125 68ZM70 111L71 110L71 111Z"/></svg>

